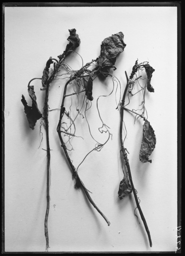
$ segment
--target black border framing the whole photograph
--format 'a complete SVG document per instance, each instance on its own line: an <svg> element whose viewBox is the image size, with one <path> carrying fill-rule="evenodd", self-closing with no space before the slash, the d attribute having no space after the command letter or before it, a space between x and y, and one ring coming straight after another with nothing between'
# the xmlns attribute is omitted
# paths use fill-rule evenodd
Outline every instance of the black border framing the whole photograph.
<svg viewBox="0 0 185 256"><path fill-rule="evenodd" d="M33 2L33 3L20 3L20 2L3 2L2 3L2 249L1 253L8 254L171 254L174 251L155 251L155 252L5 252L5 76L4 76L4 58L5 58L5 7L177 7L178 17L178 227L181 227L181 191L182 191L182 155L181 155L181 63L182 63L182 47L181 47L181 2ZM173 39L172 39L173 41ZM178 234L177 242L180 241L180 249L176 253L181 253L181 230Z"/></svg>

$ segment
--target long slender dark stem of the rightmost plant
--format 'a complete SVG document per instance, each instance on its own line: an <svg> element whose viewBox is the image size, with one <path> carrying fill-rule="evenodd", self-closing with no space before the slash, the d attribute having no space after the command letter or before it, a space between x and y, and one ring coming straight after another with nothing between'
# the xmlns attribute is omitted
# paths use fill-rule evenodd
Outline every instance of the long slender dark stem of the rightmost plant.
<svg viewBox="0 0 185 256"><path fill-rule="evenodd" d="M131 176L131 171L130 171L130 166L129 166L129 159L127 158L127 153L126 153L126 150L123 146L123 138L122 138L122 129L123 129L123 110L124 110L124 101L125 101L125 96L126 96L126 92L128 90L128 87L129 87L129 79L128 79L128 76L127 76L127 73L125 72L125 75L126 75L126 78L127 78L127 85L125 87L125 90L124 90L124 93L123 93L123 99L122 99L122 104L121 104L121 110L120 110L120 114L121 114L121 122L120 122L120 142L121 142L121 151L123 153L123 158L124 158L124 161L125 161L125 165L127 167L127 171L128 171L128 174L129 174L129 180L130 180L130 184L132 186L132 190L133 190L133 193L134 193L134 198L135 198L135 201L136 201L136 205L137 205L137 208L139 210L139 213L140 213L140 216L142 218L142 222L145 226L145 230L148 234L148 240L149 240L149 243L150 243L150 247L152 247L152 240L151 240L151 236L150 236L150 231L148 229L148 225L147 225L147 222L145 220L145 217L142 213L142 209L140 207L140 204L139 204L139 201L138 201L138 198L137 198L137 195L136 195L136 190L134 188L134 184L133 184L133 181L132 181L132 176Z"/></svg>

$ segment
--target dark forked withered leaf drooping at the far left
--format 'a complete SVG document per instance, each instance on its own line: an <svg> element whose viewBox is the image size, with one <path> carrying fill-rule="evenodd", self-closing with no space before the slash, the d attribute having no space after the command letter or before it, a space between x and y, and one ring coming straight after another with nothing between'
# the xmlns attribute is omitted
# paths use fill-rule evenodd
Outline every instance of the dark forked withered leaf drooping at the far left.
<svg viewBox="0 0 185 256"><path fill-rule="evenodd" d="M38 119L42 118L42 114L37 106L37 98L34 92L34 86L28 87L28 93L30 98L32 99L32 106L28 106L25 100L25 96L22 95L21 102L25 106L25 113L28 119L29 127L34 130L34 126Z"/></svg>

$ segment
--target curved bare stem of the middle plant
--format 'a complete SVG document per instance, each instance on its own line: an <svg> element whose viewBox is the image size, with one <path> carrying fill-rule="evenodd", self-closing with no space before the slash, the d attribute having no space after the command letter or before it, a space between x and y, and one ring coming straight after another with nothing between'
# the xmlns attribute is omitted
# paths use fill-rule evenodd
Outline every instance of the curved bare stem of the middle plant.
<svg viewBox="0 0 185 256"><path fill-rule="evenodd" d="M93 61L92 61L93 62ZM89 63L88 63L89 64ZM84 67L86 67L87 64L85 66L83 66L80 71L83 70ZM79 74L80 76L80 74ZM69 158L68 156L68 152L67 152L67 147L65 145L65 143L63 142L63 139L62 139L62 136L61 136L61 122L62 122L62 117L63 117L63 114L65 112L65 108L64 108L64 100L65 100L65 97L66 97L66 91L67 91L67 86L69 84L69 82L71 82L72 80L76 79L76 76L74 75L74 77L70 80L68 80L68 82L66 83L65 87L64 87L64 93L63 93L63 98L62 98L62 105L61 105L61 112L60 112L60 119L59 119L59 123L58 123L58 126L57 126L57 132L58 132L58 136L60 138L60 141L61 141L61 146L64 150L64 153L66 155L66 158L68 160L68 163L73 171L73 177L76 178L76 184L79 185L79 187L82 187L85 194L86 194L86 197L88 198L89 202L93 205L93 207L100 213L100 215L105 219L106 223L108 224L108 226L111 224L108 220L108 218L99 210L99 208L96 206L96 204L93 202L93 199L90 197L89 193L88 193L88 190L86 189L85 185L83 184L83 182L81 181L78 173L76 172L76 169L74 167L74 165L72 164L71 162L71 159Z"/></svg>

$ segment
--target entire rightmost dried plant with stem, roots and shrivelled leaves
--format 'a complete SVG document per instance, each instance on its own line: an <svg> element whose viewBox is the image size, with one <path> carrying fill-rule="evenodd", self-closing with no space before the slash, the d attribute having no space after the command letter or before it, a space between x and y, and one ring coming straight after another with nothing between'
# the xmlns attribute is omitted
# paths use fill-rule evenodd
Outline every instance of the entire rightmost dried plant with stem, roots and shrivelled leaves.
<svg viewBox="0 0 185 256"><path fill-rule="evenodd" d="M145 71L147 73L147 79L146 79L147 82L146 82L146 85L144 87L139 85L141 87L141 90L139 90L138 92L142 92L142 95L143 95L143 100L142 100L142 104L141 104L142 108L140 109L140 111L142 110L142 114L139 114L137 112L134 112L133 110L129 110L128 108L125 108L125 97L126 97L127 91L128 91L128 98L132 98L134 95L136 95L138 93L138 92L136 92L135 94L132 94L132 90L135 86L135 83L138 82L138 80L142 76L136 77L136 79L134 79L134 75L136 75L136 73L139 72L139 70L142 70L143 68L145 69ZM123 180L120 182L119 191L118 191L118 196L119 196L120 199L122 199L123 197L125 197L126 195L130 194L133 191L134 198L135 198L136 205L137 205L137 209L139 210L139 213L141 215L142 221L144 223L145 229L146 229L147 234L148 234L150 247L152 247L152 240L151 240L151 236L150 236L150 232L149 232L149 229L148 229L147 222L145 220L145 217L142 213L142 210L141 210L141 207L140 207L140 204L139 204L139 201L138 201L137 191L134 188L134 184L133 184L133 180L132 180L132 176L131 176L131 171L130 171L130 166L129 166L129 159L127 158L127 152L128 151L124 147L124 141L123 141L123 138L122 138L122 131L123 131L123 111L124 111L124 109L126 111L133 112L133 113L136 114L136 116L141 117L141 118L144 119L145 122L144 122L144 125L143 125L142 145L141 145L141 150L140 150L139 157L140 157L140 160L142 161L142 163L146 163L146 162L151 163L152 160L149 160L148 157L151 155L151 153L153 152L153 150L155 148L156 138L155 138L155 134L154 134L154 130L153 130L152 126L150 125L150 123L148 122L148 120L145 118L144 115L145 115L145 112L146 112L146 108L145 108L146 88L148 89L148 92L154 92L154 88L150 84L153 72L154 72L154 69L148 64L148 62L138 64L137 61L135 63L135 66L133 66L133 69L132 69L132 72L131 72L129 78L127 76L127 72L125 72L125 75L126 75L126 78L127 78L127 85L126 85L124 93L123 93L123 98L122 98L122 103L121 103L121 110L120 110L120 114L121 114L120 142L121 142L121 157L124 159L127 171L124 171L124 169L123 169L124 177L123 177ZM129 105L129 103L127 105Z"/></svg>

